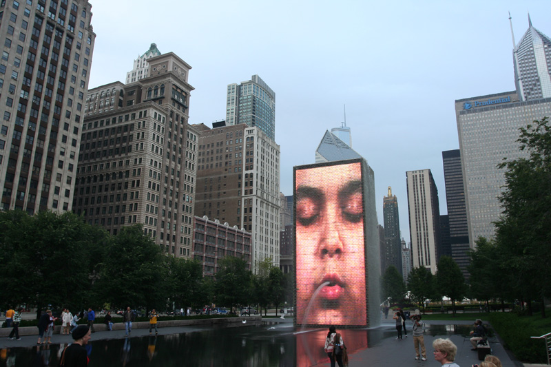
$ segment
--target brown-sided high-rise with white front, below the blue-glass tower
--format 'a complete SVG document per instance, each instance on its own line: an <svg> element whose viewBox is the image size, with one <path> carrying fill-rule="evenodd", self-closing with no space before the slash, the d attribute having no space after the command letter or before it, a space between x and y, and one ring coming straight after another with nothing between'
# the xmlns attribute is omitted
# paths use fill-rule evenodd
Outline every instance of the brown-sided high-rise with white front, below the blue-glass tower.
<svg viewBox="0 0 551 367"><path fill-rule="evenodd" d="M280 147L259 127L198 129L195 212L252 233L251 266L280 261Z"/></svg>

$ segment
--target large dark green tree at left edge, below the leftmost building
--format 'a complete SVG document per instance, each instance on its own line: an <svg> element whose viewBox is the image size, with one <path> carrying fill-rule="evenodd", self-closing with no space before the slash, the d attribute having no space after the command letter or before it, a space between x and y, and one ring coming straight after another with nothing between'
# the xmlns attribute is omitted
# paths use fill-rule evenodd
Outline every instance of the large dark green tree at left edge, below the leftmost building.
<svg viewBox="0 0 551 367"><path fill-rule="evenodd" d="M0 213L1 297L12 303L81 308L91 291L94 254L108 238L74 213ZM97 243L96 243L97 241Z"/></svg>

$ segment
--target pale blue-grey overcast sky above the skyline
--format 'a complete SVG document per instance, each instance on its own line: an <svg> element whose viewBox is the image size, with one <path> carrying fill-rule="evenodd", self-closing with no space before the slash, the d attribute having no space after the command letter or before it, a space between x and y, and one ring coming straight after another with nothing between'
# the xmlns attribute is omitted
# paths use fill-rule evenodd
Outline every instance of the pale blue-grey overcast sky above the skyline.
<svg viewBox="0 0 551 367"><path fill-rule="evenodd" d="M459 149L456 99L514 90L515 42L551 1L90 0L96 43L90 87L125 81L156 43L191 65L189 123L225 119L226 87L258 74L275 92L280 190L315 162L324 132L344 120L375 171L377 216L387 187L410 242L406 171L431 169L447 213L441 152Z"/></svg>

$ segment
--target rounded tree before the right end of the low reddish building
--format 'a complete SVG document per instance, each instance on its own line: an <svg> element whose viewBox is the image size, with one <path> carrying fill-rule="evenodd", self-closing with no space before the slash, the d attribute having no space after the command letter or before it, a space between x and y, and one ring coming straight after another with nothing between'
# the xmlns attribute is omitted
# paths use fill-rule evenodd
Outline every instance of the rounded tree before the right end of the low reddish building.
<svg viewBox="0 0 551 367"><path fill-rule="evenodd" d="M227 256L218 260L215 275L216 304L229 308L245 306L251 298L251 271L241 258Z"/></svg>

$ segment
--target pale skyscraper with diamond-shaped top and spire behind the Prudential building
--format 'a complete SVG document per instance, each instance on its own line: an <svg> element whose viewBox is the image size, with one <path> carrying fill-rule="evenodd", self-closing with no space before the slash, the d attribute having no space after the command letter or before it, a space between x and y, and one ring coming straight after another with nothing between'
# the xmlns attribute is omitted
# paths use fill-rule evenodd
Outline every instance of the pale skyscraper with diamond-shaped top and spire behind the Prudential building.
<svg viewBox="0 0 551 367"><path fill-rule="evenodd" d="M511 18L509 17L509 20ZM512 25L511 25L512 32ZM514 83L521 101L551 97L551 39L532 26L528 14L528 30L514 45Z"/></svg>

